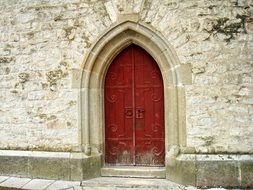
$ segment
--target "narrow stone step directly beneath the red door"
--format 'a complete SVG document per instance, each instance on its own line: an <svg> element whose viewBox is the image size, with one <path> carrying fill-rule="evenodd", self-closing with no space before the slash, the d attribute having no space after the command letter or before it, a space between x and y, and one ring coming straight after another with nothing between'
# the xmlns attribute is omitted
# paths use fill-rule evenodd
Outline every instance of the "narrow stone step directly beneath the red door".
<svg viewBox="0 0 253 190"><path fill-rule="evenodd" d="M104 177L140 177L140 178L160 178L166 177L165 167L103 167L101 176Z"/></svg>

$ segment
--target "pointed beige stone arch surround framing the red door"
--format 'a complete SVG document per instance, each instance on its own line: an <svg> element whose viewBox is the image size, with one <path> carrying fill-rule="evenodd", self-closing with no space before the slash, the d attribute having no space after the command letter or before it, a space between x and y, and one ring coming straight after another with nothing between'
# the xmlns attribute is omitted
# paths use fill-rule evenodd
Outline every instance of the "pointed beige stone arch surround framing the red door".
<svg viewBox="0 0 253 190"><path fill-rule="evenodd" d="M145 49L157 62L164 81L165 154L170 145L186 145L184 84L191 83L188 65L180 65L173 48L157 31L125 21L110 28L83 62L79 98L79 141L86 155L103 153L104 79L107 69L129 44Z"/></svg>

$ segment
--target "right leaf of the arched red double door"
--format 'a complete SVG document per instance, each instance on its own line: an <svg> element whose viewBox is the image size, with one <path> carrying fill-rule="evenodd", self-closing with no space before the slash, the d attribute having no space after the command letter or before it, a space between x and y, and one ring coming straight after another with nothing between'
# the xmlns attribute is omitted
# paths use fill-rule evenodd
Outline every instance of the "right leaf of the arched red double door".
<svg viewBox="0 0 253 190"><path fill-rule="evenodd" d="M134 46L136 102L136 165L163 166L164 93L163 80L155 60Z"/></svg>

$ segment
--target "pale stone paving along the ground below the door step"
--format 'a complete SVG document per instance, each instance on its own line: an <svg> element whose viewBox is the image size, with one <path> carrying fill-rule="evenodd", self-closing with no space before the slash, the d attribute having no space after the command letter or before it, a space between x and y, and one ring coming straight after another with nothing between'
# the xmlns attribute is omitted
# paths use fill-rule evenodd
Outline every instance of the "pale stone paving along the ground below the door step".
<svg viewBox="0 0 253 190"><path fill-rule="evenodd" d="M0 190L197 190L165 180L99 177L86 181L60 181L0 176ZM223 188L212 188L223 189Z"/></svg>

